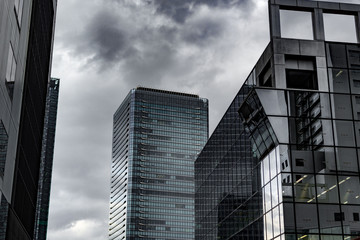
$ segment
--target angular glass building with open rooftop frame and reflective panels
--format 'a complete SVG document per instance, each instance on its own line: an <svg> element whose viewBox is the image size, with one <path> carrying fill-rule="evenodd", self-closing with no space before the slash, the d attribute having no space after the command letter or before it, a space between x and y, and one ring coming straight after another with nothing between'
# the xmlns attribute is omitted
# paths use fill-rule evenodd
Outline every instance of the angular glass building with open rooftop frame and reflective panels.
<svg viewBox="0 0 360 240"><path fill-rule="evenodd" d="M269 1L270 43L195 162L196 240L360 239L359 16Z"/></svg>

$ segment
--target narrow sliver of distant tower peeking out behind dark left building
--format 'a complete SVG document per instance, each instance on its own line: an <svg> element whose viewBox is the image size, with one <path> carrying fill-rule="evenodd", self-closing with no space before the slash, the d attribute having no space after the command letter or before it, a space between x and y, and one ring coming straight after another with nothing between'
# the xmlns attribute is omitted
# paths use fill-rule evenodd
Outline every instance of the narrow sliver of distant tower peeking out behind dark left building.
<svg viewBox="0 0 360 240"><path fill-rule="evenodd" d="M34 239L36 240L46 240L59 84L60 79L51 78L46 96L45 123L41 150L39 189L36 204L36 222L34 232Z"/></svg>

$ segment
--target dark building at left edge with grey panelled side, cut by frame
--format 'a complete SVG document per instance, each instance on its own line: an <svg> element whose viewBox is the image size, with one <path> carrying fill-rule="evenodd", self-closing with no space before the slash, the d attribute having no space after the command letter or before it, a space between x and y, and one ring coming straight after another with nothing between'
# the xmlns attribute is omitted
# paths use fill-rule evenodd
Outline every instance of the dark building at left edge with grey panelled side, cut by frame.
<svg viewBox="0 0 360 240"><path fill-rule="evenodd" d="M55 10L0 1L0 239L34 239Z"/></svg>

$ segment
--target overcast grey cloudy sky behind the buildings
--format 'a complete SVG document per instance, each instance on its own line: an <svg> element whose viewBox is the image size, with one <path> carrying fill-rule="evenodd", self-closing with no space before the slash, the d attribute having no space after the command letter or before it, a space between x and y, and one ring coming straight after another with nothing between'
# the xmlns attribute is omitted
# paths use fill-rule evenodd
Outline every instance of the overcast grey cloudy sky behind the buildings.
<svg viewBox="0 0 360 240"><path fill-rule="evenodd" d="M267 0L59 0L48 239L107 239L112 116L130 89L208 98L213 131L268 42Z"/></svg>

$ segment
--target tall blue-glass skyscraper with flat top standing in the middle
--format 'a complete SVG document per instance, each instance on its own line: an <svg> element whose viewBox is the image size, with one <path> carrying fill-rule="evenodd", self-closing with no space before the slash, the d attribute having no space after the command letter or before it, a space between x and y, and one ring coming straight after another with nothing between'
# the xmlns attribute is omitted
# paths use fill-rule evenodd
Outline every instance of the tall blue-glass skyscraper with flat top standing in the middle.
<svg viewBox="0 0 360 240"><path fill-rule="evenodd" d="M194 161L208 101L138 87L114 114L109 239L194 239Z"/></svg>

